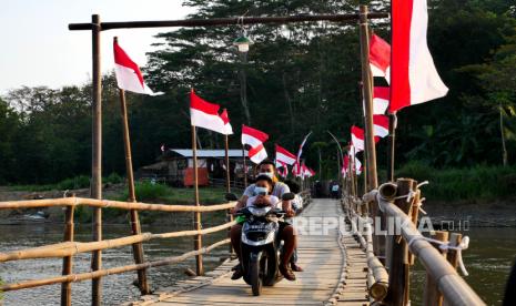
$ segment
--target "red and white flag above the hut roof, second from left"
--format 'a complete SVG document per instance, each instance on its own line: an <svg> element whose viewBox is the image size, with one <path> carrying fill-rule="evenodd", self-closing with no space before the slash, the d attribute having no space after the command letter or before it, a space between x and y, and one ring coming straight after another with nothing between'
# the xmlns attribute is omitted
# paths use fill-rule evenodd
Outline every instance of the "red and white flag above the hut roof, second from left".
<svg viewBox="0 0 516 306"><path fill-rule="evenodd" d="M220 109L221 106L217 104L206 102L196 95L193 89L190 92L190 120L192 125L225 134L227 132L227 128L222 116L219 115Z"/></svg>

